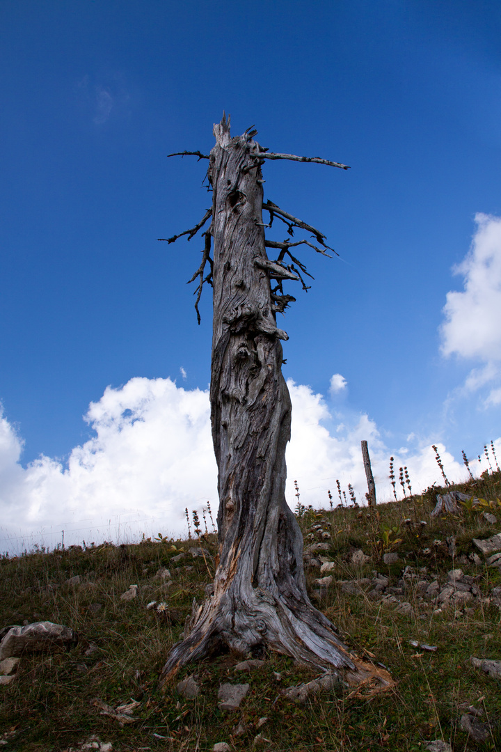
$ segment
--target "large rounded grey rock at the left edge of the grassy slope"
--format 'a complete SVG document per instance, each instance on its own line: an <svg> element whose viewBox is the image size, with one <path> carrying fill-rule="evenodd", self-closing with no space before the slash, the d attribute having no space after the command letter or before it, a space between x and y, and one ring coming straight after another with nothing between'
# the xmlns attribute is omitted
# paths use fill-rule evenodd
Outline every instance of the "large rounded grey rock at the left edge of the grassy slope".
<svg viewBox="0 0 501 752"><path fill-rule="evenodd" d="M45 653L57 647L73 647L77 641L77 632L51 621L14 626L0 644L0 661L17 658L23 653Z"/></svg>

